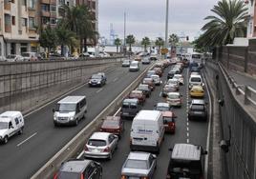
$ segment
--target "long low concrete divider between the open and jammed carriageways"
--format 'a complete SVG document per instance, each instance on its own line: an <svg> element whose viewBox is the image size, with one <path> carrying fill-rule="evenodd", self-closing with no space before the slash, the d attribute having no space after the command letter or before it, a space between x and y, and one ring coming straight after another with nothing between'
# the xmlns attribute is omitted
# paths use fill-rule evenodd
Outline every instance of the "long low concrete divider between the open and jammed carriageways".
<svg viewBox="0 0 256 179"><path fill-rule="evenodd" d="M31 179L45 179L53 178L53 173L59 169L61 163L70 159L75 158L78 151L83 149L86 139L91 136L91 134L100 127L102 124L102 119L115 112L115 110L121 105L123 99L129 94L132 89L135 89L140 81L143 79L147 70L152 69L155 63L152 62L139 77L131 83L126 89L124 89L115 100L112 101L105 109L103 109L96 118L89 123L84 129L82 129L75 137L62 149L60 149L41 169L37 170L31 177Z"/></svg>

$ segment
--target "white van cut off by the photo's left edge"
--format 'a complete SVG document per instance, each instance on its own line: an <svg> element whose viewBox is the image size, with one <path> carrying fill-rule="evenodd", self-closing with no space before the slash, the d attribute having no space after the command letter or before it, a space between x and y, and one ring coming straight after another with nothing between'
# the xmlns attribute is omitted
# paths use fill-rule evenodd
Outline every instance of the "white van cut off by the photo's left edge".
<svg viewBox="0 0 256 179"><path fill-rule="evenodd" d="M9 138L24 129L24 118L20 111L5 111L0 114L0 141L8 143Z"/></svg>

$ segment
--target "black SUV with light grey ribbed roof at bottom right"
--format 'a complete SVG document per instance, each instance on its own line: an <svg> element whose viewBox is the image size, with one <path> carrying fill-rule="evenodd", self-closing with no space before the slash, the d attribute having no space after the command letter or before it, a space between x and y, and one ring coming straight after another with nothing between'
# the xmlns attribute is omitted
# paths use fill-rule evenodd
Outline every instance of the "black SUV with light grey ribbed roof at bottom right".
<svg viewBox="0 0 256 179"><path fill-rule="evenodd" d="M167 169L168 178L203 179L203 155L207 151L193 144L175 144Z"/></svg>

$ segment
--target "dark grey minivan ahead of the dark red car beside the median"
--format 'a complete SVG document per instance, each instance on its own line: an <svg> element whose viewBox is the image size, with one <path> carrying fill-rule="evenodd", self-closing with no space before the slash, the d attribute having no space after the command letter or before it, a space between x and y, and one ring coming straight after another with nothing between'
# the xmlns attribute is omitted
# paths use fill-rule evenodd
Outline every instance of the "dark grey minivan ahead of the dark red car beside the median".
<svg viewBox="0 0 256 179"><path fill-rule="evenodd" d="M120 116L122 119L134 118L140 109L139 99L124 99L122 101Z"/></svg>

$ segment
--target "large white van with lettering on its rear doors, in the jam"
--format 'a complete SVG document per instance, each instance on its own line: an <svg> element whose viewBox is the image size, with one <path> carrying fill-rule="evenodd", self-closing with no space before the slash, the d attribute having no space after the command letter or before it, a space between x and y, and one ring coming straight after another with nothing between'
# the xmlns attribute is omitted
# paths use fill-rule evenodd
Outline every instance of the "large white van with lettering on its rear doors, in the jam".
<svg viewBox="0 0 256 179"><path fill-rule="evenodd" d="M164 137L162 114L159 110L140 110L135 116L130 134L132 150L160 152Z"/></svg>

